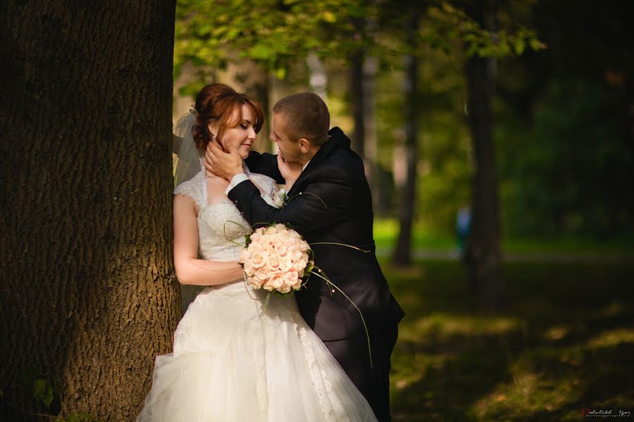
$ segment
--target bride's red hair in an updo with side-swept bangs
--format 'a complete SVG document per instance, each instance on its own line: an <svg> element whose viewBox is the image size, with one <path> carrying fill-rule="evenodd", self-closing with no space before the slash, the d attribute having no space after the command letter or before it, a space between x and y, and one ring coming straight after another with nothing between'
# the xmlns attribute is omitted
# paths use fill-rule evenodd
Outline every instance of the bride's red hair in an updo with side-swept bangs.
<svg viewBox="0 0 634 422"><path fill-rule="evenodd" d="M242 122L242 106L251 108L256 121L255 132L260 132L264 122L264 113L260 105L250 96L240 94L225 84L207 85L196 96L196 123L192 129L192 136L197 148L203 150L212 136L209 123L216 126L217 139L223 137L226 129L236 127Z"/></svg>

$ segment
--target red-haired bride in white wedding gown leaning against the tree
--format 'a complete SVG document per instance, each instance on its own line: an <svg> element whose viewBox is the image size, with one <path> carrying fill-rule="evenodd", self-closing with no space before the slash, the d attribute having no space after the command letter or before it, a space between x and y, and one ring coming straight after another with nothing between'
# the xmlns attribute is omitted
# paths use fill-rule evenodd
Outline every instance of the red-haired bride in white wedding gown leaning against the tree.
<svg viewBox="0 0 634 422"><path fill-rule="evenodd" d="M225 196L228 181L201 171L209 142L247 158L262 122L249 96L211 84L197 95L195 115L192 110L175 127L182 137L174 191L176 275L180 283L209 287L178 324L173 353L156 357L137 421L376 421L294 297L244 283L237 260L249 224ZM255 173L249 178L273 205L275 181Z"/></svg>

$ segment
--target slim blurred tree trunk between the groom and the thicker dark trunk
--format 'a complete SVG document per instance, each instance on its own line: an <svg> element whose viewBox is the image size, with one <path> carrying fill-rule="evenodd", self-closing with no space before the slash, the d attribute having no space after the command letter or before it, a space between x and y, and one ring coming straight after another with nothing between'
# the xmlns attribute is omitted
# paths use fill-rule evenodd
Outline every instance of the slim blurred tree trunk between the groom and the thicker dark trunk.
<svg viewBox="0 0 634 422"><path fill-rule="evenodd" d="M394 249L393 261L398 265L411 264L411 238L414 226L414 204L416 203L416 165L418 164L418 56L416 56L416 33L418 11L409 18L408 44L411 53L405 58L405 183L399 202L399 237Z"/></svg>

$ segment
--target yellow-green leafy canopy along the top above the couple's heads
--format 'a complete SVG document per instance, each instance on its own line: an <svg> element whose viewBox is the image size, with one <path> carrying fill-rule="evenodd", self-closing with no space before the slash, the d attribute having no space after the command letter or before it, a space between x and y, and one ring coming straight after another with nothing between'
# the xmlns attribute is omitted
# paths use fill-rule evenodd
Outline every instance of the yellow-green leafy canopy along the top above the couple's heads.
<svg viewBox="0 0 634 422"><path fill-rule="evenodd" d="M425 31L415 34L414 51L404 31L411 13L428 13ZM348 58L365 51L390 60L420 53L425 45L448 51L456 38L466 43L469 55L500 57L544 47L524 27L492 34L449 1L404 6L399 1L183 0L176 9L174 74L187 62L205 77L229 63L252 60L285 79L308 53Z"/></svg>

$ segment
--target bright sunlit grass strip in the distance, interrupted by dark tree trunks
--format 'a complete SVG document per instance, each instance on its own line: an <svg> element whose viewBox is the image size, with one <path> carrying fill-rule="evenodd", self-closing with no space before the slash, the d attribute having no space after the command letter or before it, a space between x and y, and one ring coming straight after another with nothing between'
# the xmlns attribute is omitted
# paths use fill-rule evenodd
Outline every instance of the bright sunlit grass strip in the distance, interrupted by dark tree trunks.
<svg viewBox="0 0 634 422"><path fill-rule="evenodd" d="M391 250L399 234L396 219L376 219L374 238L377 248ZM416 249L454 250L457 246L453 234L442 234L425 226L415 226L412 245ZM504 238L504 252L549 253L592 252L595 254L634 253L634 239L597 241L590 238Z"/></svg>

